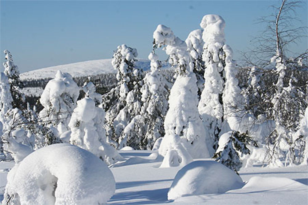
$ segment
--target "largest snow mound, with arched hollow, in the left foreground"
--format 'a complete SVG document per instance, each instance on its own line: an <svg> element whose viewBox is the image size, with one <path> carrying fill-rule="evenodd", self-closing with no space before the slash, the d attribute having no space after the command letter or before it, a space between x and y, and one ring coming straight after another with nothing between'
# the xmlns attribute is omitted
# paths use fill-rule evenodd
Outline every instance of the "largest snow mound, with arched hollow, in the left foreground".
<svg viewBox="0 0 308 205"><path fill-rule="evenodd" d="M98 157L70 144L41 148L7 175L3 203L100 204L115 192L115 179Z"/></svg>

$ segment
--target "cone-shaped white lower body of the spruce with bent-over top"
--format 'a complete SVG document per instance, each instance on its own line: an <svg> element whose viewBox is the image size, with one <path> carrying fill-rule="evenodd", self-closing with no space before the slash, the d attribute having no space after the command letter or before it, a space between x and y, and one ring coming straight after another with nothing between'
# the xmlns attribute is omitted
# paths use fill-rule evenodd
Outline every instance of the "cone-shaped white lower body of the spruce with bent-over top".
<svg viewBox="0 0 308 205"><path fill-rule="evenodd" d="M209 157L206 145L208 133L202 126L197 111L197 79L194 73L188 77L178 76L169 97L169 110L165 117L166 135L160 144L159 153L165 155L175 148L174 134L180 136L183 146L193 158ZM176 99L176 100L175 100ZM167 140L170 138L170 140ZM172 139L171 139L172 138Z"/></svg>

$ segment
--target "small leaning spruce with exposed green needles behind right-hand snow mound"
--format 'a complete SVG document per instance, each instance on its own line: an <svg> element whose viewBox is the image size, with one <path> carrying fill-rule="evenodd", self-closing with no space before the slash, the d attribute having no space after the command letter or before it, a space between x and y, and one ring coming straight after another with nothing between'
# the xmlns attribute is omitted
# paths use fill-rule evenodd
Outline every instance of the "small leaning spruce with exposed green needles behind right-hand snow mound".
<svg viewBox="0 0 308 205"><path fill-rule="evenodd" d="M237 174L242 167L241 156L250 154L249 148L246 145L257 147L257 142L252 140L246 133L227 132L221 135L218 143L218 149L213 158L235 171Z"/></svg>

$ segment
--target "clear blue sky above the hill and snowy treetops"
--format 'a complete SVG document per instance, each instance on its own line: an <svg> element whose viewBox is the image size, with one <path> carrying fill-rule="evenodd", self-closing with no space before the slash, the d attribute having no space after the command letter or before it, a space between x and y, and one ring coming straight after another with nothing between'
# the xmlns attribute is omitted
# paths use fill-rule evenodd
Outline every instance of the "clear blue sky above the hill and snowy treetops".
<svg viewBox="0 0 308 205"><path fill-rule="evenodd" d="M199 29L206 14L225 19L226 43L238 50L249 47L263 28L256 19L272 13L275 1L0 1L1 62L3 50L13 55L20 72L73 62L111 58L117 45L136 48L146 59L158 24L185 40ZM307 1L298 9L307 26ZM295 49L307 49L307 40ZM295 51L296 52L296 51ZM1 69L1 71L3 68Z"/></svg>

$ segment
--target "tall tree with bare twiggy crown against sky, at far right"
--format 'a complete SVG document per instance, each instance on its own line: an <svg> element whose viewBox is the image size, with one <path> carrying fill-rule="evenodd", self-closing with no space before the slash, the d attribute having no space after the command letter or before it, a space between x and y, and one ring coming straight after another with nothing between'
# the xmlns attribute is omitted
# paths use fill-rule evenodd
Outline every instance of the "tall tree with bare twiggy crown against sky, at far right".
<svg viewBox="0 0 308 205"><path fill-rule="evenodd" d="M280 6L272 6L274 13L259 19L266 27L261 36L253 40L256 49L243 55L245 66L261 71L263 81L269 77L270 84L259 86L262 90L257 92L264 97L257 106L266 105L266 119L275 121L275 129L265 141L268 147L267 163L276 166L282 165L281 159L286 160L285 165L300 162L295 160L298 159L298 139L293 139L292 135L307 106L306 81L299 79L306 76L302 73L307 73L308 50L298 54L290 46L307 37L307 28L296 26L300 22L296 17L296 9L301 4L300 1L282 0Z"/></svg>

